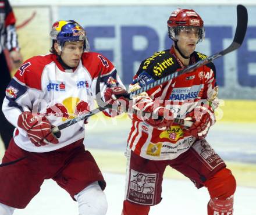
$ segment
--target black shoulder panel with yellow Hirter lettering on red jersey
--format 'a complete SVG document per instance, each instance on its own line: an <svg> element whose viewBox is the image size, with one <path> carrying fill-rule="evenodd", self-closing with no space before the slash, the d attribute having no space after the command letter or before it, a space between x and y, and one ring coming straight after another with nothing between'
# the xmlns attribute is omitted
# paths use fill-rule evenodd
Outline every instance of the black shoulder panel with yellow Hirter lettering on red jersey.
<svg viewBox="0 0 256 215"><path fill-rule="evenodd" d="M169 49L155 52L150 58L143 60L138 69L139 76L144 71L154 77L154 80L168 76L179 68L177 60L170 53Z"/></svg>

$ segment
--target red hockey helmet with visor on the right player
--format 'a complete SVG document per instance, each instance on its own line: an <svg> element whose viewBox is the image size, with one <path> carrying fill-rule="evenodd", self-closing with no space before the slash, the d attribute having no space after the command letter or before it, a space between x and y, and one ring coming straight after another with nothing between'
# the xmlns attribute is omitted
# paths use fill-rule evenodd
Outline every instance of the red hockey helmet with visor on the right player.
<svg viewBox="0 0 256 215"><path fill-rule="evenodd" d="M174 10L167 21L167 26L169 37L173 41L177 41L179 32L186 28L198 29L199 40L197 42L205 38L204 21L194 10L182 8Z"/></svg>

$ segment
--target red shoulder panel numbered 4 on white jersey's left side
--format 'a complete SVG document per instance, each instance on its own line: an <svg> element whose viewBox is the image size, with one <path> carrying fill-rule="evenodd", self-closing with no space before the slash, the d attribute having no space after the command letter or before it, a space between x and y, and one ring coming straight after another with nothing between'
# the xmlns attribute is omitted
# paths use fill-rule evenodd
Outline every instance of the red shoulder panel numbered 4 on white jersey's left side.
<svg viewBox="0 0 256 215"><path fill-rule="evenodd" d="M15 73L15 77L27 87L41 89L41 76L44 67L56 60L53 54L34 56L27 59Z"/></svg>

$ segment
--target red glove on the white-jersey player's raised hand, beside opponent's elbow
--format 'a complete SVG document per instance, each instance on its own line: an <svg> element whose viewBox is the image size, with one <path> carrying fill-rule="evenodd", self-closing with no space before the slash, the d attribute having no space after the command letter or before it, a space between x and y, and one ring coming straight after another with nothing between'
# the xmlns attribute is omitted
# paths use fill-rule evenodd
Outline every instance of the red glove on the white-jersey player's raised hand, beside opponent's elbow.
<svg viewBox="0 0 256 215"><path fill-rule="evenodd" d="M120 110L127 110L129 108L129 99L123 96L125 94L127 94L127 91L122 87L106 88L104 92L105 102L114 107L116 106L118 112L120 112Z"/></svg>

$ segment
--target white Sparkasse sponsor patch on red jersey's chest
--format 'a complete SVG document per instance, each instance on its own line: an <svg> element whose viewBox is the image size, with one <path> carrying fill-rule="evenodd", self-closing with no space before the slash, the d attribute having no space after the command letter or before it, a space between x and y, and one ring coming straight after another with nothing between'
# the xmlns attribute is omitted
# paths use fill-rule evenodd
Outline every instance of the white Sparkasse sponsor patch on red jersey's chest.
<svg viewBox="0 0 256 215"><path fill-rule="evenodd" d="M170 94L170 100L184 101L186 99L201 98L204 84L194 85L192 87L173 88Z"/></svg>

